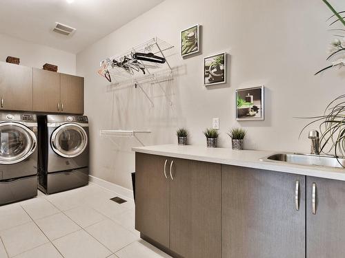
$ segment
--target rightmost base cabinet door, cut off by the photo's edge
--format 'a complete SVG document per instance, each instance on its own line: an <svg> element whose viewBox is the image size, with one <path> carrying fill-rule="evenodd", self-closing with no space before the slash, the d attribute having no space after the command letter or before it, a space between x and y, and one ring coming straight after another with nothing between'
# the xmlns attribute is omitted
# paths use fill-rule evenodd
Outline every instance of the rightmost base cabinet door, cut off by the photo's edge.
<svg viewBox="0 0 345 258"><path fill-rule="evenodd" d="M313 214L315 183L315 214ZM342 258L345 254L345 182L307 177L307 258Z"/></svg>

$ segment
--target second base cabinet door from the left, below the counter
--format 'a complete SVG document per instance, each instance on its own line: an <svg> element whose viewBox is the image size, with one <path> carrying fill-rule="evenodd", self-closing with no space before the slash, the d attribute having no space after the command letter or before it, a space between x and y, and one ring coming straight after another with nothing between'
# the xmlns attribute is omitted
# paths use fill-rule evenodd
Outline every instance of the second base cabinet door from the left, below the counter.
<svg viewBox="0 0 345 258"><path fill-rule="evenodd" d="M170 249L182 257L221 257L221 165L172 159Z"/></svg>

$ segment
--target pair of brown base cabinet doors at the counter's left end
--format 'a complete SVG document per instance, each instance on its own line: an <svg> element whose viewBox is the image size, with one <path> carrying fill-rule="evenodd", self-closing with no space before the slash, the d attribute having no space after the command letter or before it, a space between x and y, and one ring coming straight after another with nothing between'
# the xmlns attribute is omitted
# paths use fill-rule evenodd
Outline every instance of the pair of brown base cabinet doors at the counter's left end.
<svg viewBox="0 0 345 258"><path fill-rule="evenodd" d="M175 257L220 258L221 165L143 153L135 163L135 228Z"/></svg>

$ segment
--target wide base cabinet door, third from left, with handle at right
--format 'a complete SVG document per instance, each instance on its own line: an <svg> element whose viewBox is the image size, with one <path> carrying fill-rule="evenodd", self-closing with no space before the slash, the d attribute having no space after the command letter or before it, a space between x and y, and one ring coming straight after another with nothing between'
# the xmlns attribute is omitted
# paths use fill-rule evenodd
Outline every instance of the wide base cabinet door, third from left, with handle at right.
<svg viewBox="0 0 345 258"><path fill-rule="evenodd" d="M226 165L221 175L224 258L305 257L305 176Z"/></svg>

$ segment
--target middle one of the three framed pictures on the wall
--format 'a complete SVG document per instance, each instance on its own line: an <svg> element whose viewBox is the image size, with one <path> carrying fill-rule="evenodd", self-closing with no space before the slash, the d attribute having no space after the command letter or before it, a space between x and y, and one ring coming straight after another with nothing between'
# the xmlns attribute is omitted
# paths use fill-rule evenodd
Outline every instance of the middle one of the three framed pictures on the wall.
<svg viewBox="0 0 345 258"><path fill-rule="evenodd" d="M204 85L226 83L226 53L204 57Z"/></svg>

